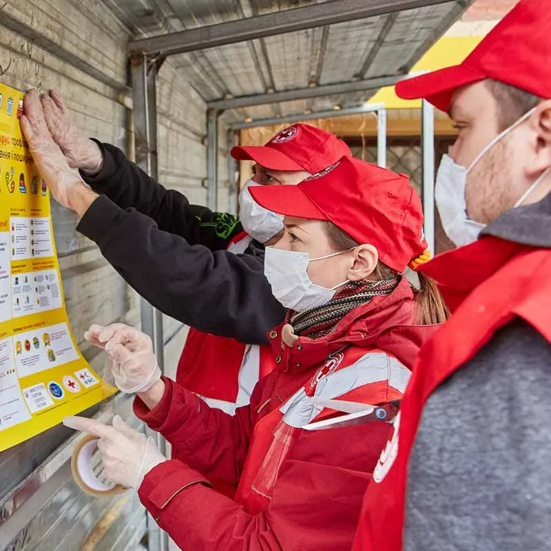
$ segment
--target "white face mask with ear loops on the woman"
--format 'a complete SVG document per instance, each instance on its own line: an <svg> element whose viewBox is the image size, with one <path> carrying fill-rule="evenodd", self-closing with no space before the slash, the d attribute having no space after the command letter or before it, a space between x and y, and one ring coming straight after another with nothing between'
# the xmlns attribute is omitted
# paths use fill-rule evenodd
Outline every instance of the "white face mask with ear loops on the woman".
<svg viewBox="0 0 551 551"><path fill-rule="evenodd" d="M335 289L348 283L344 281L331 289L316 285L309 278L306 268L310 262L331 258L346 251L310 258L308 253L284 251L267 247L264 258L264 275L271 285L273 296L296 312L304 312L322 306L335 296Z"/></svg>

